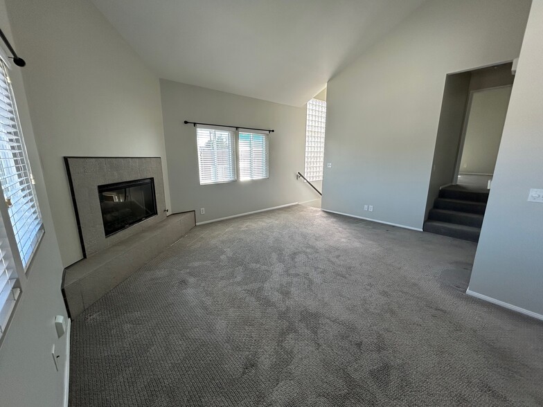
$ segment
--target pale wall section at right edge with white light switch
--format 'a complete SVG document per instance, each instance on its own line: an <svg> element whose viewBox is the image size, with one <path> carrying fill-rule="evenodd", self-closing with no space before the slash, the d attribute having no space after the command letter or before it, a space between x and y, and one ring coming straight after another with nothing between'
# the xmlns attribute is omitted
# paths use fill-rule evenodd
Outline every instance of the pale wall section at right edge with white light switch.
<svg viewBox="0 0 543 407"><path fill-rule="evenodd" d="M534 1L501 137L470 291L543 318L543 2Z"/></svg>

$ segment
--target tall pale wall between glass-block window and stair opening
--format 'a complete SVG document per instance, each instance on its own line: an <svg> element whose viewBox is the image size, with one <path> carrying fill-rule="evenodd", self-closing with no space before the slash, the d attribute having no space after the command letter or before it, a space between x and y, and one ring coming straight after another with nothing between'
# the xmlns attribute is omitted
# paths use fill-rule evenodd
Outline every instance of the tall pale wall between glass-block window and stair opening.
<svg viewBox="0 0 543 407"><path fill-rule="evenodd" d="M445 77L517 57L529 6L430 0L332 78L323 208L422 228Z"/></svg>

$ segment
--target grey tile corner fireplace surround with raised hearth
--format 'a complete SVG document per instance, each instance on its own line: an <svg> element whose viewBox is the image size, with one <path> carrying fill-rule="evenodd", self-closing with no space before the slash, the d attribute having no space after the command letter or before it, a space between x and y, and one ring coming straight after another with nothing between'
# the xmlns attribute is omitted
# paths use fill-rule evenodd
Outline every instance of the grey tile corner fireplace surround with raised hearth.
<svg viewBox="0 0 543 407"><path fill-rule="evenodd" d="M194 212L166 217L159 157L64 157L84 259L64 269L71 317L129 277L195 226ZM98 186L154 179L157 215L105 237Z"/></svg>

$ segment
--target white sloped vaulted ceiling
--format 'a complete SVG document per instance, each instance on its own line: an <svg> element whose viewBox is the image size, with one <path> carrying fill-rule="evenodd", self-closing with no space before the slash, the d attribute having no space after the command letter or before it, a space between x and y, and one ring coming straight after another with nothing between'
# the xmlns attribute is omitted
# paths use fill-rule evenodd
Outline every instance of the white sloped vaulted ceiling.
<svg viewBox="0 0 543 407"><path fill-rule="evenodd" d="M160 78L301 106L425 0L91 0Z"/></svg>

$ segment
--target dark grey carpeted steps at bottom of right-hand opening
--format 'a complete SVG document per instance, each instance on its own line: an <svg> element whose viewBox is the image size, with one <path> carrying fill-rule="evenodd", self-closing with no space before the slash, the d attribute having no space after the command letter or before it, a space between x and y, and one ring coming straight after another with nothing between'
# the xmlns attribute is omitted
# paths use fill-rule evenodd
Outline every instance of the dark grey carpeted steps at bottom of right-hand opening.
<svg viewBox="0 0 543 407"><path fill-rule="evenodd" d="M479 242L488 191L450 186L439 192L423 230L456 239Z"/></svg>

